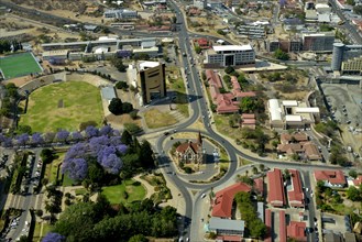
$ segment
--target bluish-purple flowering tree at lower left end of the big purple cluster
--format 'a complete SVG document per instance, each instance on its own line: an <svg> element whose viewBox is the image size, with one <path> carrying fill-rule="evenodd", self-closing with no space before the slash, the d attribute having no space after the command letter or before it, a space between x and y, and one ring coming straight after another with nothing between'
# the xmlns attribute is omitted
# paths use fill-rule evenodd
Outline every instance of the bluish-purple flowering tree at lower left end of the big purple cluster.
<svg viewBox="0 0 362 242"><path fill-rule="evenodd" d="M74 180L83 180L88 173L88 164L84 158L64 160L62 173L67 174Z"/></svg>

